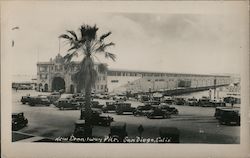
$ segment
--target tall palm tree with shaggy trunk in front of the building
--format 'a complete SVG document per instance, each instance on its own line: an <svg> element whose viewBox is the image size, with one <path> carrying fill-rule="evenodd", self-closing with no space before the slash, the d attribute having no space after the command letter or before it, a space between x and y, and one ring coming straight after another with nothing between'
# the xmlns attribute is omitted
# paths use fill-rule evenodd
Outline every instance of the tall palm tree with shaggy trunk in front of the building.
<svg viewBox="0 0 250 158"><path fill-rule="evenodd" d="M80 62L80 69L72 75L72 80L77 84L77 87L85 91L85 104L81 107L80 119L85 118L87 127L91 126L91 88L95 85L97 79L97 71L94 68L94 57L96 54L103 54L106 58L110 58L115 61L116 56L106 51L114 43L105 43L105 38L108 37L111 32L105 33L100 37L97 37L98 27L96 25L82 25L79 28L79 32L67 31L66 34L62 34L59 38L65 39L70 48L68 54L64 56L65 64L70 64L72 57L83 55L83 59ZM79 33L79 35L77 34ZM104 64L98 65L100 73L104 73L107 67ZM91 128L88 128L91 130ZM92 130L89 131L92 135Z"/></svg>

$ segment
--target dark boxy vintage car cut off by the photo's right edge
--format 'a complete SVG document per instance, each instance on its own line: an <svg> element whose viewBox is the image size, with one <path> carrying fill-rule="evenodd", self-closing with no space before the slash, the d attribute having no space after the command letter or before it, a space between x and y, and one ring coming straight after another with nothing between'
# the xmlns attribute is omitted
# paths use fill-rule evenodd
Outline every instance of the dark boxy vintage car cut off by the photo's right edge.
<svg viewBox="0 0 250 158"><path fill-rule="evenodd" d="M222 109L218 118L220 124L240 126L239 109Z"/></svg>

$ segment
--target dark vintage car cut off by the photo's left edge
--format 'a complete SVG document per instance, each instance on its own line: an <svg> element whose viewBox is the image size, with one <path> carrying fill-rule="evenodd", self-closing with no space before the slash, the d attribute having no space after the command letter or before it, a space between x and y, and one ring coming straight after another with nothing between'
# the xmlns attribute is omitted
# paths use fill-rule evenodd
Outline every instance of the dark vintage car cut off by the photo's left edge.
<svg viewBox="0 0 250 158"><path fill-rule="evenodd" d="M28 119L24 117L23 112L12 113L12 130L19 130L28 124Z"/></svg>

